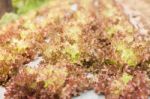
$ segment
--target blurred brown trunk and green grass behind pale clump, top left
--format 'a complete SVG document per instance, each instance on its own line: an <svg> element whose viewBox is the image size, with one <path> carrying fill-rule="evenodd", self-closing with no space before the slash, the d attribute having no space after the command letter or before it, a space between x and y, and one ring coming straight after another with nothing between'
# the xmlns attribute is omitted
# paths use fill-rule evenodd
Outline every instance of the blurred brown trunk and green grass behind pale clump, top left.
<svg viewBox="0 0 150 99"><path fill-rule="evenodd" d="M0 16L6 12L27 13L49 0L0 0Z"/></svg>

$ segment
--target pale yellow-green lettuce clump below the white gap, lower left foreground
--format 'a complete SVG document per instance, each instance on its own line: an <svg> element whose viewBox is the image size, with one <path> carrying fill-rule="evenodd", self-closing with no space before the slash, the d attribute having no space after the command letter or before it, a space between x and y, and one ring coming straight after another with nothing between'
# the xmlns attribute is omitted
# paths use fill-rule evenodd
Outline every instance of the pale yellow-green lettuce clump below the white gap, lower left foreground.
<svg viewBox="0 0 150 99"><path fill-rule="evenodd" d="M36 81L43 81L44 88L48 88L49 86L57 86L60 87L65 83L65 79L68 75L68 71L64 67L51 66L48 65L46 67L35 68L26 68L28 74L36 74ZM31 87L35 88L37 83L32 83Z"/></svg>

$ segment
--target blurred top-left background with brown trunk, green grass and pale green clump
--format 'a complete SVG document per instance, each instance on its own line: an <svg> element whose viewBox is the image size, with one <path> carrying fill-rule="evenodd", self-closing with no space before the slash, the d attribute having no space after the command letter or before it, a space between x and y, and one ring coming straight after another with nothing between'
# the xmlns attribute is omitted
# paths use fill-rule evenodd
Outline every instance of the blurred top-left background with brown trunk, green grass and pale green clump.
<svg viewBox="0 0 150 99"><path fill-rule="evenodd" d="M0 27L50 0L0 0Z"/></svg>

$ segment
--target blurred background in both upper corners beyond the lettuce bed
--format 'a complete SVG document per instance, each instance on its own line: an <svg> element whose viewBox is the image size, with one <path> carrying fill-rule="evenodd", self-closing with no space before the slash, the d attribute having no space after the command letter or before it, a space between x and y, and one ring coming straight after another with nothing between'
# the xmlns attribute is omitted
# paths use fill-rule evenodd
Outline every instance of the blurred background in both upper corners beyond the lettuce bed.
<svg viewBox="0 0 150 99"><path fill-rule="evenodd" d="M49 0L0 0L0 18L6 12L24 14L30 9L38 8ZM150 29L150 0L117 0L141 16L144 26Z"/></svg>

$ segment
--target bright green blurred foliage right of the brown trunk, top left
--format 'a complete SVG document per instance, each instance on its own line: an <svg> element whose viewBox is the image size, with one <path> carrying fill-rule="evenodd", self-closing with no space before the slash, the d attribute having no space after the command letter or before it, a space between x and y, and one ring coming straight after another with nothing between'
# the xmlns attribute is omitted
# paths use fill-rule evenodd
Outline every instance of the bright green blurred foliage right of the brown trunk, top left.
<svg viewBox="0 0 150 99"><path fill-rule="evenodd" d="M24 14L40 7L46 1L48 0L12 0L12 4L18 14Z"/></svg>

